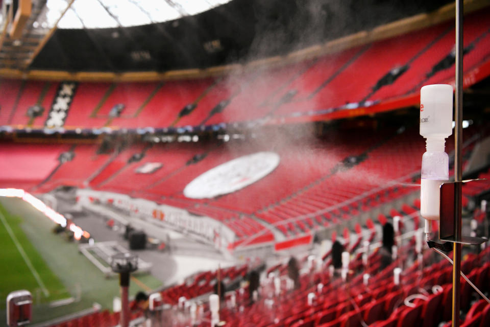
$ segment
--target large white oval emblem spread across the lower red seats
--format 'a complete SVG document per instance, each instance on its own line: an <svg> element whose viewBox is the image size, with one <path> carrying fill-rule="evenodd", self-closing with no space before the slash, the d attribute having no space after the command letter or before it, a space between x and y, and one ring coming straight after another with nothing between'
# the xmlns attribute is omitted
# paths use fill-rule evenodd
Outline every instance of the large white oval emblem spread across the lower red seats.
<svg viewBox="0 0 490 327"><path fill-rule="evenodd" d="M192 180L184 189L191 199L210 199L243 189L271 173L279 165L274 152L257 152L225 162Z"/></svg>

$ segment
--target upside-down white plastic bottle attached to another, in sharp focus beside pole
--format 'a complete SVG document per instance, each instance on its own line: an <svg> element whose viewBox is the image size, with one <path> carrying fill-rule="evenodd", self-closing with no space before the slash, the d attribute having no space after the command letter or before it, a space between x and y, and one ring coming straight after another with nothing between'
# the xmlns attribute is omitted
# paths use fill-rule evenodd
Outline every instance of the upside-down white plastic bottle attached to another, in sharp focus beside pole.
<svg viewBox="0 0 490 327"><path fill-rule="evenodd" d="M449 158L444 151L446 138L452 134L453 87L447 84L426 85L420 90L420 135L426 138L422 156L420 192L421 215L439 220L440 184L449 180ZM426 221L426 232L430 231Z"/></svg>

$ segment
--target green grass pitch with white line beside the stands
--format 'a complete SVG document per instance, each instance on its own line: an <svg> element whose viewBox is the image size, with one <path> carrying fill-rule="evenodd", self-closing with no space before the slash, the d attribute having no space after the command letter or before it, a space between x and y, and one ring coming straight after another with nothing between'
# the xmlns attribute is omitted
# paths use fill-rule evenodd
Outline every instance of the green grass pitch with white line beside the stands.
<svg viewBox="0 0 490 327"><path fill-rule="evenodd" d="M9 227L0 217L0 323L5 321L5 298L12 290L28 289L34 297L33 322L41 322L90 308L94 302L112 309L112 300L119 296L117 278L104 274L78 251L78 244L68 242L52 232L54 223L30 204L15 198L0 198L0 213L12 229L41 284L50 293L41 291L35 273L9 235ZM156 289L162 283L152 275L139 275L130 286L130 295L140 290ZM55 299L75 297L69 305L53 308Z"/></svg>

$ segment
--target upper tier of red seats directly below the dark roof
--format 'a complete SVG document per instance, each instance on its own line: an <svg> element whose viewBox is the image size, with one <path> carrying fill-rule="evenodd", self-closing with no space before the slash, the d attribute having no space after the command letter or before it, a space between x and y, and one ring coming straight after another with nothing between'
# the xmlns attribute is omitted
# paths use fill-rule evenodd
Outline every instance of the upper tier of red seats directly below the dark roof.
<svg viewBox="0 0 490 327"><path fill-rule="evenodd" d="M464 71L488 64L490 20L485 8L464 19ZM217 78L131 83L80 83L65 128L169 128L233 124L264 118L293 119L409 98L426 84L450 83L454 75L454 28L450 22L405 35L273 68ZM465 87L476 83L465 79ZM0 126L42 128L59 83L0 81ZM44 107L35 119L32 105ZM119 116L111 109L123 105ZM348 106L346 106L348 105ZM390 108L396 109L396 107ZM369 112L369 108L365 109Z"/></svg>

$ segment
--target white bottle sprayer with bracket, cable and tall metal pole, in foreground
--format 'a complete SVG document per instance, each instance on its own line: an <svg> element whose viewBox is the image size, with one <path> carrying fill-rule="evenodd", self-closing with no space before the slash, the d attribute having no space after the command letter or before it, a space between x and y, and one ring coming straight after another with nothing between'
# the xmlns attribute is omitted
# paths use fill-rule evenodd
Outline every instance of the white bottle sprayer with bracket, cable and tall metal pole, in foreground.
<svg viewBox="0 0 490 327"><path fill-rule="evenodd" d="M420 95L420 134L426 137L422 157L421 216L426 219L425 233L430 248L453 264L452 326L458 327L461 283L464 279L488 302L480 290L461 272L461 245L481 244L487 239L461 235L462 183L462 110L463 110L463 0L456 0L456 89L454 110L454 182L449 181L449 159L444 151L445 138L452 131L453 87L426 85ZM431 223L439 222L439 240L431 240ZM445 241L445 242L440 242ZM442 251L453 251L453 260Z"/></svg>

